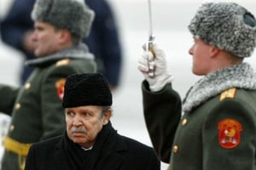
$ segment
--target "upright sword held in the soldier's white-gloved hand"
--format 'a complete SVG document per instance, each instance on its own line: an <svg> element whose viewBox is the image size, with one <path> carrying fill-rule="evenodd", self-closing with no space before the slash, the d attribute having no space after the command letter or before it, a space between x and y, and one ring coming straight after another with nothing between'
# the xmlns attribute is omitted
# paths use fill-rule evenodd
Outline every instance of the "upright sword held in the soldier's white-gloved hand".
<svg viewBox="0 0 256 170"><path fill-rule="evenodd" d="M154 78L154 70L155 66L152 63L155 59L155 54L152 48L153 41L154 41L154 34L153 34L153 24L152 24L152 9L151 9L151 1L148 0L148 23L149 23L149 31L148 31L148 42L146 44L146 50L150 51L153 54L153 59L148 59L148 77Z"/></svg>

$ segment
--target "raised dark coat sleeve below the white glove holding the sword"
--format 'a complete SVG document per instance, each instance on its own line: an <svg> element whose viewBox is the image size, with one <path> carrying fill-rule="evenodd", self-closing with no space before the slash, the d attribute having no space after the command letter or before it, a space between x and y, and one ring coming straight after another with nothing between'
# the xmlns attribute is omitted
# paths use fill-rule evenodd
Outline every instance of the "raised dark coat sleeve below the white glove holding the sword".
<svg viewBox="0 0 256 170"><path fill-rule="evenodd" d="M143 82L143 112L154 150L161 161L169 162L177 124L181 117L181 99L171 84L158 92L149 91Z"/></svg>

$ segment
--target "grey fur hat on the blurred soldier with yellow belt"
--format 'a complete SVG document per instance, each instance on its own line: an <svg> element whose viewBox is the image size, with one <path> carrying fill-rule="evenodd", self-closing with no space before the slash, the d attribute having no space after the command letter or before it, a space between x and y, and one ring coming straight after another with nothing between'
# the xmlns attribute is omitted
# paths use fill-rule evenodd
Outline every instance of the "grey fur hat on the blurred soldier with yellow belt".
<svg viewBox="0 0 256 170"><path fill-rule="evenodd" d="M32 20L67 29L80 39L89 35L94 16L84 0L37 0L32 9Z"/></svg>

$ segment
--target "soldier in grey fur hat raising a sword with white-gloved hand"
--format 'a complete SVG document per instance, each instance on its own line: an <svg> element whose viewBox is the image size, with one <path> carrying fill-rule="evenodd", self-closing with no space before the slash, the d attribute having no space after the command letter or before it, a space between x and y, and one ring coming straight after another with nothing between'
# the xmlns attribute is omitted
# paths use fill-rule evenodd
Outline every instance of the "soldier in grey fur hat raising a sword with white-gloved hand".
<svg viewBox="0 0 256 170"><path fill-rule="evenodd" d="M143 110L150 138L172 170L256 169L256 74L243 60L256 45L256 20L236 3L203 3L189 24L195 82L183 102L172 89L164 52L153 45L155 77L143 72ZM183 111L183 116L182 116Z"/></svg>

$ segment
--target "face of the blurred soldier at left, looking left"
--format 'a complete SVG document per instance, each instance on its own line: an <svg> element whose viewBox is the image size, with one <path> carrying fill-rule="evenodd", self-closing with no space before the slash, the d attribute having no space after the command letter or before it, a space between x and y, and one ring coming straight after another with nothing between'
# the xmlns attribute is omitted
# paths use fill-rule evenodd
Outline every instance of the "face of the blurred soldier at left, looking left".
<svg viewBox="0 0 256 170"><path fill-rule="evenodd" d="M60 31L54 26L42 21L35 21L32 40L35 43L34 54L38 57L44 57L49 54L54 54L58 51L58 40Z"/></svg>

